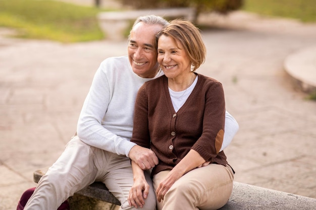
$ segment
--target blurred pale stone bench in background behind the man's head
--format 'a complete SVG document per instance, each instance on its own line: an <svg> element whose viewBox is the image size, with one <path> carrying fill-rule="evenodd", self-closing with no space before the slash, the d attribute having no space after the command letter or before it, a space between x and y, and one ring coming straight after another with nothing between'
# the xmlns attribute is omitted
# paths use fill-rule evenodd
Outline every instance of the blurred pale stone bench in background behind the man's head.
<svg viewBox="0 0 316 210"><path fill-rule="evenodd" d="M133 10L133 11L117 11L117 12L101 12L97 15L98 23L106 34L107 39L122 40L131 28L133 22L139 16L156 15L164 18L175 19L185 18L193 21L195 18L194 8L168 8L168 9L153 9L153 10Z"/></svg>

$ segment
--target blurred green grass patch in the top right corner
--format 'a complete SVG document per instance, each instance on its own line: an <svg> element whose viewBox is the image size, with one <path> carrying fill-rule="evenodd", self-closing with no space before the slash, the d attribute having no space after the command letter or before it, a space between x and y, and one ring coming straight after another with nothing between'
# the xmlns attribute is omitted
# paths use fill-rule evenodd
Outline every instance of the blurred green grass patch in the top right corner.
<svg viewBox="0 0 316 210"><path fill-rule="evenodd" d="M316 0L244 0L243 11L316 22Z"/></svg>

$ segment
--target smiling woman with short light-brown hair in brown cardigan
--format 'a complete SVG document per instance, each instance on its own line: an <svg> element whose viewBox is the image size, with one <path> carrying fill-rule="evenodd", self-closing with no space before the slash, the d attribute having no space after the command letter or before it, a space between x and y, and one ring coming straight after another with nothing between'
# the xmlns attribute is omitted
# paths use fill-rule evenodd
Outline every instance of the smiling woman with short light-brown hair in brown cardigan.
<svg viewBox="0 0 316 210"><path fill-rule="evenodd" d="M164 76L146 82L136 98L131 142L158 157L151 172L157 209L218 209L228 201L234 171L221 150L225 125L222 84L195 73L205 60L199 30L175 20L157 36ZM142 206L148 185L132 161L130 205Z"/></svg>

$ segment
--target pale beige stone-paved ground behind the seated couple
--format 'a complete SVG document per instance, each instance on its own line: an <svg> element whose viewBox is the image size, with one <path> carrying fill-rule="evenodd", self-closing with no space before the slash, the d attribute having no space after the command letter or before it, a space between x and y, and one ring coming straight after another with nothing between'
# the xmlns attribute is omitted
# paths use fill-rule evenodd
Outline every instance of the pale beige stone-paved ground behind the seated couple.
<svg viewBox="0 0 316 210"><path fill-rule="evenodd" d="M238 182L316 198L316 102L293 88L284 60L316 45L316 25L243 13L204 30L199 73L224 85L240 130L226 150ZM10 39L0 30L0 210L36 186L76 130L99 63L125 55L126 41L76 44Z"/></svg>

